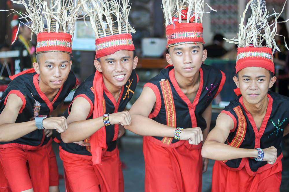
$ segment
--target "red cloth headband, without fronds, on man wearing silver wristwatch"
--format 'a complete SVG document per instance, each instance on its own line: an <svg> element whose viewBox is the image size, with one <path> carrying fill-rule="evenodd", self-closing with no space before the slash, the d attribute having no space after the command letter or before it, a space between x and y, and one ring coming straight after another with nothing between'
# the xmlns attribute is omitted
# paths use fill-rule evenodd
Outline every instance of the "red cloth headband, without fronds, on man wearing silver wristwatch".
<svg viewBox="0 0 289 192"><path fill-rule="evenodd" d="M65 52L71 54L71 37L68 33L38 33L36 54L44 52Z"/></svg>

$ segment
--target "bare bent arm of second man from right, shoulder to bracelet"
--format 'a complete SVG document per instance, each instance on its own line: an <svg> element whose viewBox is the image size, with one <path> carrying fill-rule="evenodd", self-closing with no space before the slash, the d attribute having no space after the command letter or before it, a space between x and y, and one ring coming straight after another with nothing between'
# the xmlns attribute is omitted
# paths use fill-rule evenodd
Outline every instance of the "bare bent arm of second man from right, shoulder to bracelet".
<svg viewBox="0 0 289 192"><path fill-rule="evenodd" d="M149 87L144 87L140 97L129 110L131 125L125 126L125 129L143 136L174 137L176 128L148 118L155 101L156 97L153 90Z"/></svg>

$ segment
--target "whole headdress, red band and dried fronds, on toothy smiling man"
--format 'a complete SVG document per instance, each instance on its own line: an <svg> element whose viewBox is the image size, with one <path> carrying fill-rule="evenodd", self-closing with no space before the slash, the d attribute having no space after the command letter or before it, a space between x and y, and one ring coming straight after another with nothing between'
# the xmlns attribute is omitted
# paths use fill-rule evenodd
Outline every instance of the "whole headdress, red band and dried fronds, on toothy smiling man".
<svg viewBox="0 0 289 192"><path fill-rule="evenodd" d="M130 33L136 31L128 22L131 8L129 0L81 0L81 2L95 32L96 58L114 54L119 50L134 50ZM116 17L116 21L113 16Z"/></svg>

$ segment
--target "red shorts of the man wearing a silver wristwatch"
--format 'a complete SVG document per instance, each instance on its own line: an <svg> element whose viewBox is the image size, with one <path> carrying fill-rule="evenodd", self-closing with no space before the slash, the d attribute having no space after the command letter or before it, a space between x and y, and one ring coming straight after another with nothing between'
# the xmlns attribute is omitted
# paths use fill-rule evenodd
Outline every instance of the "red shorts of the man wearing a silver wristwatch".
<svg viewBox="0 0 289 192"><path fill-rule="evenodd" d="M0 162L4 173L1 180L5 177L9 183L9 186L2 186L1 182L4 191L20 192L33 188L34 192L49 192L49 186L59 185L58 167L51 144L42 150L19 147L0 149Z"/></svg>

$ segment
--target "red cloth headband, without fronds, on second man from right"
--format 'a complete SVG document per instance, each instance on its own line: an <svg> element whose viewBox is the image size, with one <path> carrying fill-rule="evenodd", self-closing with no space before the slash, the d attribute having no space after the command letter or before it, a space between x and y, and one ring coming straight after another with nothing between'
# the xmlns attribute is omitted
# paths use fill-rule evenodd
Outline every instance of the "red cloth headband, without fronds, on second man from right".
<svg viewBox="0 0 289 192"><path fill-rule="evenodd" d="M168 47L187 43L205 44L201 23L178 23L166 27Z"/></svg>

